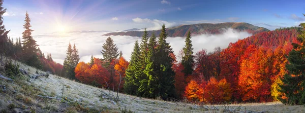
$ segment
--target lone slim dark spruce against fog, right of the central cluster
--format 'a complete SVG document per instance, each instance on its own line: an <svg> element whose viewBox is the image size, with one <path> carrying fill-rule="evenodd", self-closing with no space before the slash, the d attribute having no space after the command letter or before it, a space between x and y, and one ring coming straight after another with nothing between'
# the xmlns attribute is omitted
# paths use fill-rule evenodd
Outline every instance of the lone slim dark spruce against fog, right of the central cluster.
<svg viewBox="0 0 305 113"><path fill-rule="evenodd" d="M181 61L181 64L184 66L184 69L182 71L186 74L186 76L193 73L194 67L194 55L191 38L191 32L189 31L185 41L186 45L183 48L184 56L182 57Z"/></svg>

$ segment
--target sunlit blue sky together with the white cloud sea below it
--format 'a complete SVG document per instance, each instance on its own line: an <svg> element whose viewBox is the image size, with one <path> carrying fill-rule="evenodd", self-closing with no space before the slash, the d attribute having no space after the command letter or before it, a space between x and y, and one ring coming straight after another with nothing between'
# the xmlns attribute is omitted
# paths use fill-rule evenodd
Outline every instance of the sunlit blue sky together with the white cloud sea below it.
<svg viewBox="0 0 305 113"><path fill-rule="evenodd" d="M69 43L76 44L81 61L90 55L102 57L100 51L110 31L132 28L160 29L196 23L247 22L274 30L297 26L305 22L303 1L204 1L204 0L4 0L4 25L8 35L21 37L25 12L31 18L33 37L47 54L62 63ZM96 33L68 33L69 31L95 30ZM244 39L252 34L226 29L218 35L194 36L194 50L220 46ZM140 37L111 36L123 56L129 59L134 41ZM170 37L168 42L177 52L184 46L184 38Z"/></svg>

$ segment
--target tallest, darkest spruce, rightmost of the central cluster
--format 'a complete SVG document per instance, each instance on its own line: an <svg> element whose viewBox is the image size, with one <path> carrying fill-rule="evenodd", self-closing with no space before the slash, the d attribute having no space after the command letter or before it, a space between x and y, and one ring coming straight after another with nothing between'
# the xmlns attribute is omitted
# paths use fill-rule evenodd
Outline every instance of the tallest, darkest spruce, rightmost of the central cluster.
<svg viewBox="0 0 305 113"><path fill-rule="evenodd" d="M157 81L158 81L158 96L161 96L163 99L168 99L169 97L175 97L175 86L174 86L174 76L175 72L171 68L174 62L174 59L170 57L170 54L173 53L172 49L169 46L169 43L166 43L167 33L165 25L162 25L161 33L159 35L158 47L157 47L157 59L156 61L156 70L157 70Z"/></svg>

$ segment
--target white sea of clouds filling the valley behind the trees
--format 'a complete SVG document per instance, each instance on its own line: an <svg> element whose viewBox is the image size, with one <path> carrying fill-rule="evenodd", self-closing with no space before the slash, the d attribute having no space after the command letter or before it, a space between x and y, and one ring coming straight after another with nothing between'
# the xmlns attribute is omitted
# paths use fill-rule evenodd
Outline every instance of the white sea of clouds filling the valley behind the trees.
<svg viewBox="0 0 305 113"><path fill-rule="evenodd" d="M57 63L63 64L66 57L68 44L75 44L79 51L80 61L88 62L90 56L103 58L100 53L102 46L108 36L103 34L108 32L82 32L82 33L45 33L33 35L37 41L41 51L47 55L51 53L52 58ZM236 42L238 39L245 39L252 34L248 32L238 32L234 29L226 29L222 34L201 34L192 36L192 44L194 53L202 49L208 52L214 50L215 47L226 48L230 42ZM141 40L141 37L135 36L110 36L116 44L119 51L123 52L123 57L130 59L136 39ZM168 37L167 42L170 43L175 54L185 46L185 37Z"/></svg>

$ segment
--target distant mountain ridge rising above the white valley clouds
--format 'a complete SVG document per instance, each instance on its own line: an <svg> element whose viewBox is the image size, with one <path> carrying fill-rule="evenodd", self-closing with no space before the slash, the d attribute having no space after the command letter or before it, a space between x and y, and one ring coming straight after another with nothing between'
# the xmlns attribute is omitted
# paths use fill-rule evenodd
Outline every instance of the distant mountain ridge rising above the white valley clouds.
<svg viewBox="0 0 305 113"><path fill-rule="evenodd" d="M219 34L224 31L226 28L232 28L237 31L247 31L249 33L259 33L263 31L269 31L266 28L254 26L249 23L244 22L227 22L227 23L201 23L201 24L191 24L191 25L180 25L172 28L168 28L166 32L168 33L167 36L169 37L185 37L187 35L187 32L191 31L192 34L204 34L204 33L210 33L210 34ZM152 30L148 31L148 36L151 35L151 33L155 32L157 35L160 34L161 30ZM110 32L104 34L105 36L110 35L129 35L129 36L138 36L141 37L143 35L143 31L122 31L122 32Z"/></svg>

